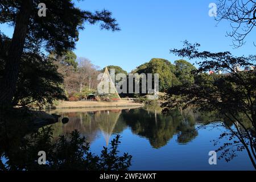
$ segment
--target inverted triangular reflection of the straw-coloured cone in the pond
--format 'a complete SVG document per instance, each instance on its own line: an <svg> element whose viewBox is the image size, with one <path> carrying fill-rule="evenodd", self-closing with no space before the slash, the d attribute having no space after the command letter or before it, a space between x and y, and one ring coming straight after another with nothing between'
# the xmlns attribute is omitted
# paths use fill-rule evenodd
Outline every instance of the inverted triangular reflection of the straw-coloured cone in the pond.
<svg viewBox="0 0 256 182"><path fill-rule="evenodd" d="M104 138L106 140L106 146L109 144L109 139L113 134L114 127L118 121L121 114L121 110L115 112L101 111L96 113L95 119L98 122L98 126Z"/></svg>

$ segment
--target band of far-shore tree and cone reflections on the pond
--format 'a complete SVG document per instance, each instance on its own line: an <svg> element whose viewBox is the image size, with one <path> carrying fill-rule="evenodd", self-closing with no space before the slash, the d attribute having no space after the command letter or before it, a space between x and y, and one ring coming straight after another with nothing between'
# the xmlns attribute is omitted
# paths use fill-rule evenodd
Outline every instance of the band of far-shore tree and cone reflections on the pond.
<svg viewBox="0 0 256 182"><path fill-rule="evenodd" d="M108 146L113 134L122 133L130 127L133 134L147 138L153 148L165 146L174 135L177 135L177 142L180 144L191 142L198 135L195 123L201 119L190 110L183 113L173 110L169 115L164 115L159 106L98 111L55 110L51 113L69 118L65 125L53 125L55 137L77 129L88 142L93 142L102 134Z"/></svg>

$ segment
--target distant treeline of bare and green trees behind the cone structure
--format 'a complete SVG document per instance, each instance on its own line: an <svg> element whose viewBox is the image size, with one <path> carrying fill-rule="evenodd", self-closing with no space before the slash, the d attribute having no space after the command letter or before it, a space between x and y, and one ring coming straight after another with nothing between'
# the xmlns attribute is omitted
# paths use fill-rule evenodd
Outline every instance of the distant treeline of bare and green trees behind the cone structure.
<svg viewBox="0 0 256 182"><path fill-rule="evenodd" d="M69 100L80 100L86 98L88 94L97 90L98 74L104 72L105 68L93 65L88 59L77 58L72 51L66 52L62 56L51 53L49 57L54 59L58 67L58 72L63 75L63 87ZM108 65L108 70L114 69L115 75L123 73L127 75L127 90L129 90L129 77L127 71L116 65ZM159 91L167 92L174 85L193 82L191 71L196 69L191 63L185 60L176 60L174 64L166 59L151 59L131 71L131 73L155 73L159 74ZM154 77L154 76L153 76ZM153 79L154 80L154 79ZM117 84L121 80L115 80ZM125 84L125 83L124 83ZM154 84L153 84L154 87ZM141 92L140 92L141 93ZM134 97L134 93L121 93L121 97Z"/></svg>

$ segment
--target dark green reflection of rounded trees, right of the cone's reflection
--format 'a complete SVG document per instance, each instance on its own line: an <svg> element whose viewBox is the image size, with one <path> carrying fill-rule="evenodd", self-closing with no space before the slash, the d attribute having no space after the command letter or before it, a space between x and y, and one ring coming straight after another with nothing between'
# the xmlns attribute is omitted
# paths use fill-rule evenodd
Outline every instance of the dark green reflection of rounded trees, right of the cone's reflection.
<svg viewBox="0 0 256 182"><path fill-rule="evenodd" d="M183 117L177 110L170 115L156 110L131 110L130 113L123 112L122 117L133 133L149 139L154 148L165 146L175 134L180 143L187 143L197 135L191 119Z"/></svg>

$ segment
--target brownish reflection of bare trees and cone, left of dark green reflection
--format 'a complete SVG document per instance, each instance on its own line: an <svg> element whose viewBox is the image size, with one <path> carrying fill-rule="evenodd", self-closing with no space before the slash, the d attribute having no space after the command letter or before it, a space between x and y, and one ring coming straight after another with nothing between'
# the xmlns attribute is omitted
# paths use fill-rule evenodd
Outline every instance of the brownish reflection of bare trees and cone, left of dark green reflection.
<svg viewBox="0 0 256 182"><path fill-rule="evenodd" d="M108 145L109 139L111 135L115 133L115 130L120 130L123 128L122 123L117 125L121 110L70 112L57 114L60 114L61 117L68 117L69 122L65 125L60 122L53 125L55 129L55 137L71 133L73 130L77 130L82 136L86 137L88 142L92 142L96 139L99 130L101 130L106 140L106 144ZM115 129L116 125L117 129Z"/></svg>

